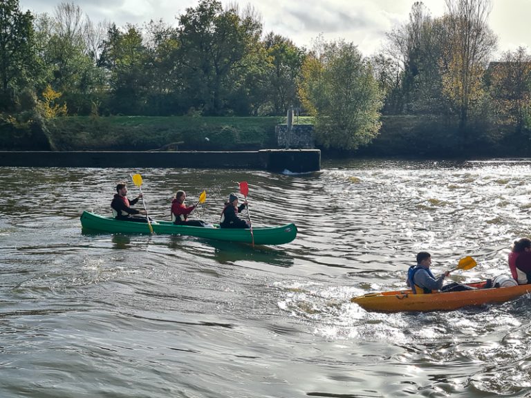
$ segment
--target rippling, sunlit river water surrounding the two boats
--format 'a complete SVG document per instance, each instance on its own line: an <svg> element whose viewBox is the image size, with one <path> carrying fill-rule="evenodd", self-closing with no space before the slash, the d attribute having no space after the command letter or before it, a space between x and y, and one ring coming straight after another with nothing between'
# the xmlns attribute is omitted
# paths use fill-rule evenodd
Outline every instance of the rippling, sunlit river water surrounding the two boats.
<svg viewBox="0 0 531 398"><path fill-rule="evenodd" d="M403 287L421 250L436 274L476 258L454 281L508 274L531 161L322 167L0 168L0 397L531 397L529 296L411 314L349 301ZM253 249L82 233L82 210L109 214L129 173L153 218L177 189L190 204L206 189L196 217L217 222L246 180L254 225L299 234Z"/></svg>

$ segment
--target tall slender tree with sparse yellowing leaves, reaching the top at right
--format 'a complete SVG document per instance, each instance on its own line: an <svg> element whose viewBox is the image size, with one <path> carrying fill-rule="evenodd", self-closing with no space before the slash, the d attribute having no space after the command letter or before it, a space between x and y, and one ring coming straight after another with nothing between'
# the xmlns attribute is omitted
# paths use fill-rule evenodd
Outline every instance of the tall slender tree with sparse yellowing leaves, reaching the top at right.
<svg viewBox="0 0 531 398"><path fill-rule="evenodd" d="M483 73L497 38L487 24L490 0L446 0L446 5L443 93L458 115L462 143L468 144L469 113L484 95Z"/></svg>

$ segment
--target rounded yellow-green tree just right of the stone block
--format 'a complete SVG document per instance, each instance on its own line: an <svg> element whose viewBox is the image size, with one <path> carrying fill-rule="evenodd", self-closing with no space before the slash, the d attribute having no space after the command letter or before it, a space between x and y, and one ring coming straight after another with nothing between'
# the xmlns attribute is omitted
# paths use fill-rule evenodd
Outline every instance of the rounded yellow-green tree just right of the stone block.
<svg viewBox="0 0 531 398"><path fill-rule="evenodd" d="M303 66L303 104L315 115L325 148L357 149L380 129L382 94L369 61L354 44L318 42Z"/></svg>

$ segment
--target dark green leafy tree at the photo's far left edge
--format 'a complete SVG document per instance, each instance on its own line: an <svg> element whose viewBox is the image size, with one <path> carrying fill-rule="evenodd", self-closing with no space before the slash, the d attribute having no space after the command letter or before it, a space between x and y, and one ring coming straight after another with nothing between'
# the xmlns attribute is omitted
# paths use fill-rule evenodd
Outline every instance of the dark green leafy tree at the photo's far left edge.
<svg viewBox="0 0 531 398"><path fill-rule="evenodd" d="M33 16L18 0L0 1L0 107L14 104L15 93L32 82L38 65Z"/></svg>

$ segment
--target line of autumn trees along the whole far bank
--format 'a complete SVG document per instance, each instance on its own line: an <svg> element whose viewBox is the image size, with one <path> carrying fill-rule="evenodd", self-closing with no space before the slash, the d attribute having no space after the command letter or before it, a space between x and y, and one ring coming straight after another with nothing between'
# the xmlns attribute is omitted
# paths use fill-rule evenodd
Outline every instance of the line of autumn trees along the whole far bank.
<svg viewBox="0 0 531 398"><path fill-rule="evenodd" d="M453 153L527 149L531 56L519 48L492 62L490 1L446 3L438 18L414 3L409 21L367 57L342 40L295 46L265 34L251 6L216 0L187 8L176 27L95 24L75 3L33 15L3 0L0 134L26 129L46 140L51 121L72 115L279 116L293 106L315 117L323 148L368 146L382 116L414 116L415 129L388 124L402 129L391 135Z"/></svg>

